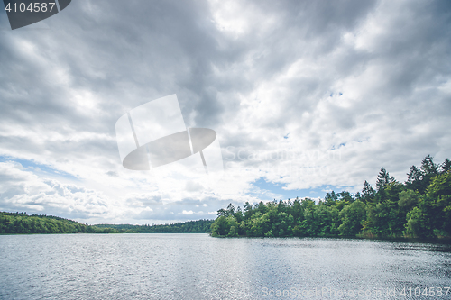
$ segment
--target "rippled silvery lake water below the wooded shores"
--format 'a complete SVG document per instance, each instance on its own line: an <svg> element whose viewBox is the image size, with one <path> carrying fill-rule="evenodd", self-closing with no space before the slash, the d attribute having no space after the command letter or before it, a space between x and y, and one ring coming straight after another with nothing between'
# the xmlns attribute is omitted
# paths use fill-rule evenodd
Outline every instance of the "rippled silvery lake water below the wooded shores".
<svg viewBox="0 0 451 300"><path fill-rule="evenodd" d="M0 236L0 299L451 299L446 287L446 244L207 234Z"/></svg>

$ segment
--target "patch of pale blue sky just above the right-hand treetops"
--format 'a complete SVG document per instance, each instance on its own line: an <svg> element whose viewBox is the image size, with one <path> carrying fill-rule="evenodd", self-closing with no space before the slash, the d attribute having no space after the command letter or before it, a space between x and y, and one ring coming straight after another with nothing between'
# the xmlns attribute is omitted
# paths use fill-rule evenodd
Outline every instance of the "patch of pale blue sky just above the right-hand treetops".
<svg viewBox="0 0 451 300"><path fill-rule="evenodd" d="M340 193L342 191L352 191L352 187L343 187L343 186L318 186L315 188L306 188L306 189L291 189L287 190L283 187L286 187L283 184L272 183L271 181L267 181L265 177L260 177L255 182L253 182L253 186L255 189L253 190L254 196L260 196L262 200L273 200L273 195L279 195L276 200L293 200L296 197L304 198L321 198L324 199L327 192L335 191L336 193ZM272 196L272 197L271 197Z"/></svg>

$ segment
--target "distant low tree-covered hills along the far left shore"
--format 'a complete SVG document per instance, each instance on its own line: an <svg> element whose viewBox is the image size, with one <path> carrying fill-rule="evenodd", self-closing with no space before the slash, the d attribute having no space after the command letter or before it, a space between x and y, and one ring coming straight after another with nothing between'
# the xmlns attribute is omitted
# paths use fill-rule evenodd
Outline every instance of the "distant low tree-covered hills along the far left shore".
<svg viewBox="0 0 451 300"><path fill-rule="evenodd" d="M161 225L87 225L45 214L0 212L0 234L26 233L205 233L213 220Z"/></svg>

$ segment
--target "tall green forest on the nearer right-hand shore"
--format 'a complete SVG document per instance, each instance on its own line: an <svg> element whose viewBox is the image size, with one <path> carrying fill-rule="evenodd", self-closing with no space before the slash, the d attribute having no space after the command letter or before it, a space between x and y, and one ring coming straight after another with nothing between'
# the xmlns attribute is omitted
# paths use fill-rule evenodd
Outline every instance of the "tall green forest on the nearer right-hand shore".
<svg viewBox="0 0 451 300"><path fill-rule="evenodd" d="M398 182L381 168L375 188L312 199L230 204L211 224L215 237L451 238L451 161L431 156Z"/></svg>

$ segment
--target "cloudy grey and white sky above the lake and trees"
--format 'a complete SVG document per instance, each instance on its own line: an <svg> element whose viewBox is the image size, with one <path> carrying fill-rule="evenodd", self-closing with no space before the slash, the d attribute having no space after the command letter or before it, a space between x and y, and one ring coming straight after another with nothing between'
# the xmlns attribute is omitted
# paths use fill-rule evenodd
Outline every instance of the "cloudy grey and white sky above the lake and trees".
<svg viewBox="0 0 451 300"><path fill-rule="evenodd" d="M175 223L404 182L451 158L450 32L447 0L74 0L14 31L2 11L0 210ZM122 166L116 121L173 94L217 133L214 182Z"/></svg>

